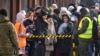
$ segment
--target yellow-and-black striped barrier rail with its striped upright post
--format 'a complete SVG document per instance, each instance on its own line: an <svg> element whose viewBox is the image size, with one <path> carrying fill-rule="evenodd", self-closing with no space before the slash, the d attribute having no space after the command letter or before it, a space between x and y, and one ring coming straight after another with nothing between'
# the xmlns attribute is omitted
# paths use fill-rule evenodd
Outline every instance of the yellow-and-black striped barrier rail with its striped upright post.
<svg viewBox="0 0 100 56"><path fill-rule="evenodd" d="M28 38L73 38L73 35L30 35ZM77 56L77 52L76 52L76 44L75 42L73 41L72 43L72 54L71 56Z"/></svg>

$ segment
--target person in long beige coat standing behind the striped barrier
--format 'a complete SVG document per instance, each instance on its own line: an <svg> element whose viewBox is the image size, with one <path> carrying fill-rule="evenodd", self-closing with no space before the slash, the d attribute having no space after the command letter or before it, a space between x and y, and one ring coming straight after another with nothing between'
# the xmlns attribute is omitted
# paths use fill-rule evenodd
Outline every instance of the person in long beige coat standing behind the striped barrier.
<svg viewBox="0 0 100 56"><path fill-rule="evenodd" d="M48 15L47 23L48 23L47 35L56 35L54 22L53 22L53 18L51 15ZM54 51L54 44L56 42L57 42L56 38L47 37L45 39L45 48L46 48L45 56L53 56L52 52Z"/></svg>

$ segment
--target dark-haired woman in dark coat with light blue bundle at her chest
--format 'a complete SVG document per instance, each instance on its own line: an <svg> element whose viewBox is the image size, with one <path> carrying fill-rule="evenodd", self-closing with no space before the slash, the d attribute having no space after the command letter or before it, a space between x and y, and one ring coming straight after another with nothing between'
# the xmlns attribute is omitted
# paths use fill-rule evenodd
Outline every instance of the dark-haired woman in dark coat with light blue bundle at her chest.
<svg viewBox="0 0 100 56"><path fill-rule="evenodd" d="M72 22L67 14L62 16L63 23L59 27L58 34L72 35ZM70 56L71 53L72 38L58 38L57 48L60 56Z"/></svg>

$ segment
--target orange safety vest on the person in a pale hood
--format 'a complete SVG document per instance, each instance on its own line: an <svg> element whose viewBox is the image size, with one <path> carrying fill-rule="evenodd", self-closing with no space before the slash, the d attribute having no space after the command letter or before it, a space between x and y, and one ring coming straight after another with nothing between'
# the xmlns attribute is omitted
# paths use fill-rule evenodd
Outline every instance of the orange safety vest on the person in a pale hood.
<svg viewBox="0 0 100 56"><path fill-rule="evenodd" d="M21 33L26 34L25 27L21 23L16 22L15 23L15 31L17 33L17 36L19 34L20 28L21 28ZM18 37L18 43L19 43L19 48L25 47L26 46L26 37Z"/></svg>

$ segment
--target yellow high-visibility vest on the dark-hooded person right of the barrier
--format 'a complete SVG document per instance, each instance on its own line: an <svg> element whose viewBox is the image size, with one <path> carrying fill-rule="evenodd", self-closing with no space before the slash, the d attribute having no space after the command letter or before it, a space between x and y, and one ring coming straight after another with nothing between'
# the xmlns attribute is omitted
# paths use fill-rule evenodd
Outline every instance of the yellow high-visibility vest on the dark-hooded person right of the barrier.
<svg viewBox="0 0 100 56"><path fill-rule="evenodd" d="M83 39L90 39L90 38L92 38L93 21L89 17L84 17L80 21L79 26L78 26L78 30L80 30L82 28L82 22L85 19L87 19L89 21L89 25L87 27L87 30L84 33L82 33L82 34L79 34L78 37L79 38L83 38Z"/></svg>

